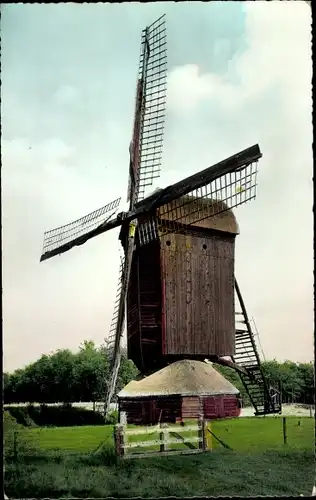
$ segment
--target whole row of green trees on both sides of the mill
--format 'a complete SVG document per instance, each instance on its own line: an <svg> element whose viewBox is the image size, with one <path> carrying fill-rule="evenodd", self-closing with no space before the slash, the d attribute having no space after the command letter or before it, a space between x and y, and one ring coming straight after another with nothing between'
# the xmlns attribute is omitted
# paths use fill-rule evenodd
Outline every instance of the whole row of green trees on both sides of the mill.
<svg viewBox="0 0 316 500"><path fill-rule="evenodd" d="M249 403L238 374L227 367L216 368L239 389L244 404ZM273 360L262 362L262 368L270 385L281 388L284 403L313 404L313 363ZM109 375L107 345L96 347L92 341L85 341L77 352L61 349L51 355L42 355L23 369L4 373L4 403L103 401ZM137 368L123 351L115 394L137 375Z"/></svg>

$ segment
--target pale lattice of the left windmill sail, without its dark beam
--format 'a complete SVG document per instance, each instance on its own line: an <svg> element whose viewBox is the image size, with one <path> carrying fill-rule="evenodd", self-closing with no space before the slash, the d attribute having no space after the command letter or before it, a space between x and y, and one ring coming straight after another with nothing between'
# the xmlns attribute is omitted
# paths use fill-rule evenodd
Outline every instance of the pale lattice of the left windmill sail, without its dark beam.
<svg viewBox="0 0 316 500"><path fill-rule="evenodd" d="M116 214L120 201L121 198L117 198L104 207L70 222L65 226L46 231L44 233L42 255L59 248L61 245L72 242L74 238L92 231L104 222L108 222Z"/></svg>

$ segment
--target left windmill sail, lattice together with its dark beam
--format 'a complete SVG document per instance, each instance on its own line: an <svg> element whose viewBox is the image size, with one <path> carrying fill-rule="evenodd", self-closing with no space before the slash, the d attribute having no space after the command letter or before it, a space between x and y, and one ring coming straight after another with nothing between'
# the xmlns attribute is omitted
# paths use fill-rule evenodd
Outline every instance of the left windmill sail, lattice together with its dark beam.
<svg viewBox="0 0 316 500"><path fill-rule="evenodd" d="M51 231L46 231L44 233L43 251L40 260L43 261L60 253L67 252L74 246L81 245L87 239L100 234L100 227L106 227L106 223L117 212L120 201L121 198L117 198L81 219L77 219L74 222L57 227Z"/></svg>

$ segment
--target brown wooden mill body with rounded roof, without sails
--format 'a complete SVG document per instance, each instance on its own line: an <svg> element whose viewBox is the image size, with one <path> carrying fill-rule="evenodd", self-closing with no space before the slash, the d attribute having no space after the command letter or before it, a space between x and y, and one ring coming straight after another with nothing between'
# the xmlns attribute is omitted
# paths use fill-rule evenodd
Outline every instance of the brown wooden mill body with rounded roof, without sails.
<svg viewBox="0 0 316 500"><path fill-rule="evenodd" d="M193 212L196 200L180 201L186 202L188 214ZM142 372L185 358L235 354L238 225L223 202L205 200L204 205L217 215L189 226L183 210L182 219L177 219L177 225L182 220L186 223L181 232L166 234L134 253L127 296L127 346L129 358ZM176 208L172 208L162 207L169 220L175 216Z"/></svg>

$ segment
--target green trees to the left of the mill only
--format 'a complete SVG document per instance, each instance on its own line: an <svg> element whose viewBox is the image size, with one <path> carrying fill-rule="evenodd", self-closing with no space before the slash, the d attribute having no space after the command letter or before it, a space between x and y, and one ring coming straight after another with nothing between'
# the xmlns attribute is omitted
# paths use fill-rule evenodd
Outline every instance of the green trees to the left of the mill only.
<svg viewBox="0 0 316 500"><path fill-rule="evenodd" d="M103 401L109 380L109 350L83 342L77 352L60 349L13 373L4 373L4 404ZM138 370L123 350L116 393Z"/></svg>

